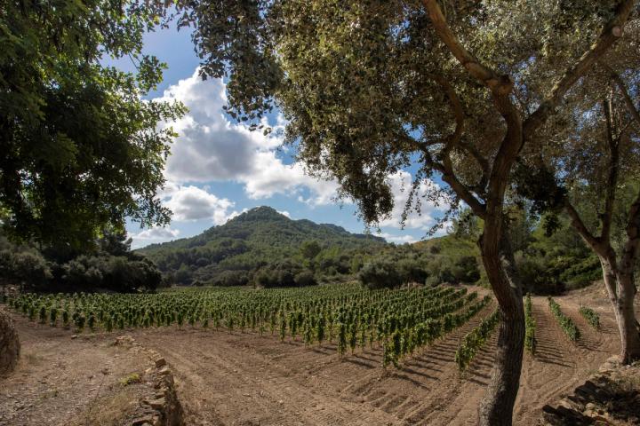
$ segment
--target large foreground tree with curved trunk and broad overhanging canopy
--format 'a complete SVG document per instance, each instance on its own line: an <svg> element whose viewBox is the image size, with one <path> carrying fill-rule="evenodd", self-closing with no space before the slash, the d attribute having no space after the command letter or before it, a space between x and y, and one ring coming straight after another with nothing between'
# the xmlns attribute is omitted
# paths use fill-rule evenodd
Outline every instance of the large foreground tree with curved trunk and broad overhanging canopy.
<svg viewBox="0 0 640 426"><path fill-rule="evenodd" d="M332 177L367 223L393 207L389 176L412 167L408 210L464 203L500 304L484 425L510 424L524 308L505 195L524 146L563 107L636 12L635 1L210 1L179 3L204 77L227 79L228 114L254 129L274 107L286 142ZM268 131L268 129L266 130ZM420 185L441 177L444 187ZM420 191L419 191L420 190ZM418 195L420 193L420 196Z"/></svg>

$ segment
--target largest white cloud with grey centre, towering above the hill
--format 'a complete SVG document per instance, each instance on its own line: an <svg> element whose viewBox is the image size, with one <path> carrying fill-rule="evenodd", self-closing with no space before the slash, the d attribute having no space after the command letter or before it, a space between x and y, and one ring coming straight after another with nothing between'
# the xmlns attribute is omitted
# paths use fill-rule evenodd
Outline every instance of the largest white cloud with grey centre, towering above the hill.
<svg viewBox="0 0 640 426"><path fill-rule="evenodd" d="M171 123L179 133L172 146L165 176L178 184L233 180L244 184L252 199L269 198L276 193L297 194L307 188L311 205L328 204L338 185L304 173L300 164L285 164L276 155L282 145L279 132L265 136L242 124L230 122L223 114L225 85L220 79L203 81L194 75L172 85L160 99L180 100L189 112ZM282 116L276 128L282 128Z"/></svg>

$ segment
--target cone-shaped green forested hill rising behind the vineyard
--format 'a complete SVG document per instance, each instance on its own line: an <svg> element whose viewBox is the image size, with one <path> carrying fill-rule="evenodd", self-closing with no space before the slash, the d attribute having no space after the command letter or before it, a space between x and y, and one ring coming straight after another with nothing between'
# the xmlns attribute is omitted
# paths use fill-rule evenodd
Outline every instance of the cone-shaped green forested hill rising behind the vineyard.
<svg viewBox="0 0 640 426"><path fill-rule="evenodd" d="M306 256L302 246L308 248ZM323 274L346 273L356 252L372 253L386 246L380 237L307 219L292 220L263 206L194 237L152 244L138 252L172 282L240 285L264 268L294 274L305 266Z"/></svg>

